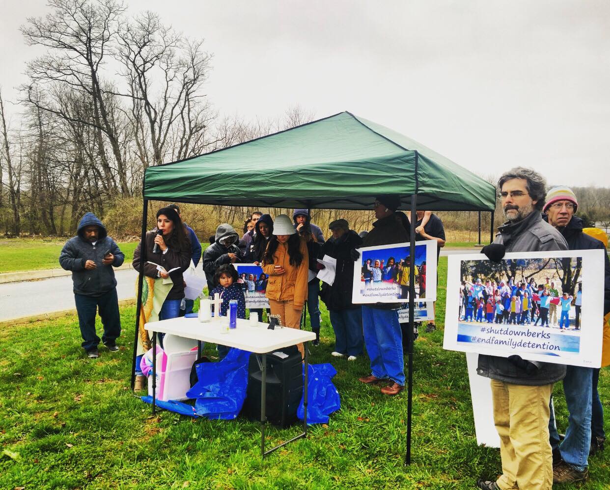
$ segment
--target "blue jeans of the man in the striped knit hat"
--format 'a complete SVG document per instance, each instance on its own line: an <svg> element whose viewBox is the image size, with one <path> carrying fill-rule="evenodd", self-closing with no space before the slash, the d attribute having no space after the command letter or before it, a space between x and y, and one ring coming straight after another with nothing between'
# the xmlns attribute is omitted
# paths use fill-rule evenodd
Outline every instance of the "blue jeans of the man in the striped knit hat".
<svg viewBox="0 0 610 490"><path fill-rule="evenodd" d="M567 313L567 312L566 312ZM551 447L561 452L561 458L578 471L584 471L591 446L591 399L593 369L591 367L567 366L564 378L565 403L570 416L565 439L559 444L554 410L548 422Z"/></svg>

